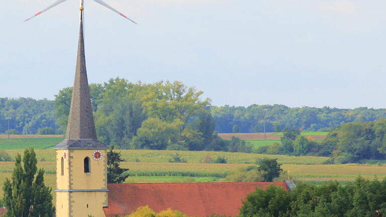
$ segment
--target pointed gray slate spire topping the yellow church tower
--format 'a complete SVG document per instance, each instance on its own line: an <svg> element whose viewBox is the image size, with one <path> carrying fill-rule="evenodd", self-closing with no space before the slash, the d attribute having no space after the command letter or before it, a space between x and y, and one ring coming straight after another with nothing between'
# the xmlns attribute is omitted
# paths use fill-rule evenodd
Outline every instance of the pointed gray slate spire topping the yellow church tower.
<svg viewBox="0 0 386 217"><path fill-rule="evenodd" d="M83 24L80 19L78 54L74 86L72 89L70 114L65 140L57 144L55 149L63 148L99 148L104 149L108 145L96 140L95 124L92 116L90 93L84 57Z"/></svg>

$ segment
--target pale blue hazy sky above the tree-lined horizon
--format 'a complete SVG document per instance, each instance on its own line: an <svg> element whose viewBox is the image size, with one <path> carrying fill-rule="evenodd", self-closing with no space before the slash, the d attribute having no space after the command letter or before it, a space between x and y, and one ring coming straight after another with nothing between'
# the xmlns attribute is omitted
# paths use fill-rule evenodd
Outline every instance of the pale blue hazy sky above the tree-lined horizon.
<svg viewBox="0 0 386 217"><path fill-rule="evenodd" d="M0 1L0 97L71 86L79 2ZM386 1L84 0L90 83L179 80L213 105L385 108Z"/></svg>

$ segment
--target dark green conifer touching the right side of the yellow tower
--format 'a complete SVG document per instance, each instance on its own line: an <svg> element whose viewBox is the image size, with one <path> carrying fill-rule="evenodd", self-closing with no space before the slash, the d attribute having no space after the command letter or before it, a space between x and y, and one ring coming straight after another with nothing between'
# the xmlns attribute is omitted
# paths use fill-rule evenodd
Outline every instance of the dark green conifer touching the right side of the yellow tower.
<svg viewBox="0 0 386 217"><path fill-rule="evenodd" d="M114 146L111 146L110 151L107 153L107 183L123 183L129 174L123 174L129 169L123 169L120 167L121 153L113 151Z"/></svg>

